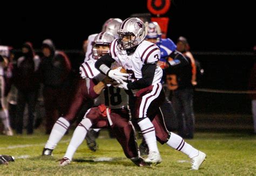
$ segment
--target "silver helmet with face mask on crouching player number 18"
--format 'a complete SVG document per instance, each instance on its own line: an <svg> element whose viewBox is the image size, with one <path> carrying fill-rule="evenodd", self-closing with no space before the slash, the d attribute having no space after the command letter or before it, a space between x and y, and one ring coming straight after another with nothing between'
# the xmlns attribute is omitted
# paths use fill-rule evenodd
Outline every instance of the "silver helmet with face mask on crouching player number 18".
<svg viewBox="0 0 256 176"><path fill-rule="evenodd" d="M92 42L92 58L97 60L109 52L112 40L114 40L113 34L109 32L100 32ZM103 50L100 46L107 46L108 50Z"/></svg>

